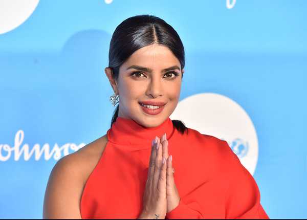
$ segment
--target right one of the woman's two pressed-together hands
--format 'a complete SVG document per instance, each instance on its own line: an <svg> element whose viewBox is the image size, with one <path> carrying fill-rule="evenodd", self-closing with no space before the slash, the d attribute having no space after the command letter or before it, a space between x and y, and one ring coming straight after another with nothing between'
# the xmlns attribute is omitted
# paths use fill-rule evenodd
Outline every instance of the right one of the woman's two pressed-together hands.
<svg viewBox="0 0 307 220"><path fill-rule="evenodd" d="M167 212L176 208L180 202L179 192L177 190L172 168L172 157L168 155L168 142L166 134L161 137L162 156L166 159L167 173L166 173L166 196L167 196Z"/></svg>

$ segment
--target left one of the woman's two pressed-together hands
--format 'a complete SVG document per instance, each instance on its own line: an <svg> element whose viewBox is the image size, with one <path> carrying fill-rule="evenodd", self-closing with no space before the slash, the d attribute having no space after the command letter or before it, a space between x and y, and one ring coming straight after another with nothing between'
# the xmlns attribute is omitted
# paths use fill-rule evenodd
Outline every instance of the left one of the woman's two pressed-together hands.
<svg viewBox="0 0 307 220"><path fill-rule="evenodd" d="M156 137L155 140L151 144L148 175L143 195L143 211L139 218L164 219L167 211L166 159L164 160L162 156L163 149L160 139Z"/></svg>

